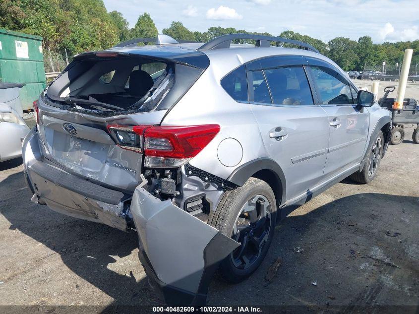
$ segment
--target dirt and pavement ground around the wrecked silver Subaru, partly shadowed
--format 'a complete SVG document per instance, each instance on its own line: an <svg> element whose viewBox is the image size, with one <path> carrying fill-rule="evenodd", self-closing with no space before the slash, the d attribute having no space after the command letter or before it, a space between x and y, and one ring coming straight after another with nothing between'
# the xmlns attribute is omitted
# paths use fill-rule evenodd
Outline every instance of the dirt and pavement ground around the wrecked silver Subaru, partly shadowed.
<svg viewBox="0 0 419 314"><path fill-rule="evenodd" d="M240 284L214 279L209 305L418 306L419 145L412 130L389 147L371 184L346 179L279 222L261 267ZM0 305L159 304L136 234L61 215L31 196L21 160L0 164Z"/></svg>

